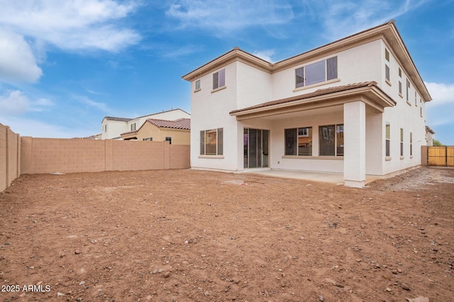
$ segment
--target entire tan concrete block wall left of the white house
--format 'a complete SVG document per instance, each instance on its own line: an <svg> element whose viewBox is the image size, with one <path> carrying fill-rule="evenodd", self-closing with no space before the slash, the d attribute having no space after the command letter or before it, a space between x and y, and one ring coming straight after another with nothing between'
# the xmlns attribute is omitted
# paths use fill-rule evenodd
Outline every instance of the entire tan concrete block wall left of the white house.
<svg viewBox="0 0 454 302"><path fill-rule="evenodd" d="M0 192L21 174L190 168L189 145L21 137L0 124Z"/></svg>

